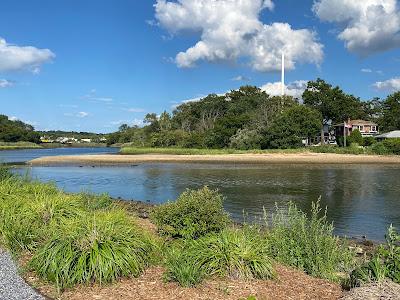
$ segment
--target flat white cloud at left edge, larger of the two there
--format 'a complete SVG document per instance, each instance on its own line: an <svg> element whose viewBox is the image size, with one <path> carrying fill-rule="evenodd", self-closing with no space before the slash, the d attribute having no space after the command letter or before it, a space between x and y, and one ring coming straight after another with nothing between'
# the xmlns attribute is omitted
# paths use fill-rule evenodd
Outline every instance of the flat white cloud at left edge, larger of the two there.
<svg viewBox="0 0 400 300"><path fill-rule="evenodd" d="M0 38L0 72L29 70L37 74L40 66L54 57L49 49L12 45Z"/></svg>

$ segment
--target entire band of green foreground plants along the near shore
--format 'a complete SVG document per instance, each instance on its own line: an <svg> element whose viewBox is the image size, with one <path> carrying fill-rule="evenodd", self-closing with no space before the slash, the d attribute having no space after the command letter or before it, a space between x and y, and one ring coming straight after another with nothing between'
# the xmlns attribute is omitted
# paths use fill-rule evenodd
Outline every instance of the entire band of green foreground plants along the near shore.
<svg viewBox="0 0 400 300"><path fill-rule="evenodd" d="M271 217L265 213L264 225L234 226L222 195L204 187L154 208L151 219L159 235L136 225L136 217L106 194L66 194L0 166L0 245L15 256L28 252L28 268L59 292L136 277L152 264L162 264L165 280L184 287L212 277L274 279L276 263L332 281L350 278L354 285L400 282L395 229L370 261L356 267L354 252L333 235L319 201L310 215L290 203Z"/></svg>

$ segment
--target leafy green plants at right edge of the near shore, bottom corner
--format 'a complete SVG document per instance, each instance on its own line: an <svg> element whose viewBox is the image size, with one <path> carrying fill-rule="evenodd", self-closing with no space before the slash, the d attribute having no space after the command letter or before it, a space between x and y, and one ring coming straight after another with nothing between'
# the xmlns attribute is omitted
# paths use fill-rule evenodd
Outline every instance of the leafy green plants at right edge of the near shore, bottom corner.
<svg viewBox="0 0 400 300"><path fill-rule="evenodd" d="M353 285L386 278L400 283L400 235L391 225L386 234L386 245L381 245L374 257L351 274Z"/></svg>

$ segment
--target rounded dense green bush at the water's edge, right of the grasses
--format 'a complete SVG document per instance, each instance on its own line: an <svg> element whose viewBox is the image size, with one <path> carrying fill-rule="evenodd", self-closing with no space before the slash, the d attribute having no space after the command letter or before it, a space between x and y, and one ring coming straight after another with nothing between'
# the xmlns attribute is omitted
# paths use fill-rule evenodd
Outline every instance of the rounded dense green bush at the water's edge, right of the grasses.
<svg viewBox="0 0 400 300"><path fill-rule="evenodd" d="M151 217L160 233L179 238L198 238L229 223L222 195L208 187L186 190L175 202L156 207Z"/></svg>

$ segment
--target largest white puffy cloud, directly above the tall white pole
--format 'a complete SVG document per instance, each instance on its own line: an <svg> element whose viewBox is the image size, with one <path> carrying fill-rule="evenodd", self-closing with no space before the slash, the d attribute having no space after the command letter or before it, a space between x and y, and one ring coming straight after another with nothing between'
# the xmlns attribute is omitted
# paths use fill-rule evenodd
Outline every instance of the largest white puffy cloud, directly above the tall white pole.
<svg viewBox="0 0 400 300"><path fill-rule="evenodd" d="M201 35L194 46L176 55L179 67L244 58L254 70L276 71L281 67L282 51L289 70L297 62L319 64L323 46L313 31L261 22L261 11L273 7L271 0L157 0L155 4L156 19L169 32Z"/></svg>

